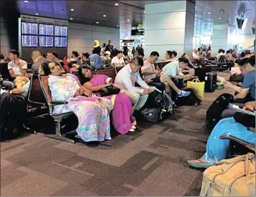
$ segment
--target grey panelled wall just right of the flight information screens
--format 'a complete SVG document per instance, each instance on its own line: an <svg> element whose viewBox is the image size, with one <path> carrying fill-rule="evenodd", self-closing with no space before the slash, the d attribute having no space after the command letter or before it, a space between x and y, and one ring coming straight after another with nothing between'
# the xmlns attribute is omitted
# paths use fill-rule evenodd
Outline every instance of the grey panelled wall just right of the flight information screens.
<svg viewBox="0 0 256 197"><path fill-rule="evenodd" d="M120 48L119 29L109 27L97 27L86 24L68 24L68 55L73 50L78 52L91 52L93 41L99 40L100 45L111 40L111 45L116 49Z"/></svg>

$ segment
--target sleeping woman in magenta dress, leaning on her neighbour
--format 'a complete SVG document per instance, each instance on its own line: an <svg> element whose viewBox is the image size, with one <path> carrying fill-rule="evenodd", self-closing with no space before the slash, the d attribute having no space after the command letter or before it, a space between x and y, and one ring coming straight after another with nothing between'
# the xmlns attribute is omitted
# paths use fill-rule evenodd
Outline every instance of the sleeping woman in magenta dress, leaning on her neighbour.
<svg viewBox="0 0 256 197"><path fill-rule="evenodd" d="M112 78L106 75L94 75L91 72L91 69L88 67L83 67L81 74L86 77L86 83L83 84L87 90L92 92L99 92L104 89L104 87L111 87L113 80ZM113 86L112 86L113 87ZM116 88L117 89L117 88ZM115 95L106 96L107 99L112 100L114 103L114 108L111 112L112 114L112 123L114 128L119 133L125 134L128 131L134 131L136 128L132 124L132 102L129 97L117 89Z"/></svg>

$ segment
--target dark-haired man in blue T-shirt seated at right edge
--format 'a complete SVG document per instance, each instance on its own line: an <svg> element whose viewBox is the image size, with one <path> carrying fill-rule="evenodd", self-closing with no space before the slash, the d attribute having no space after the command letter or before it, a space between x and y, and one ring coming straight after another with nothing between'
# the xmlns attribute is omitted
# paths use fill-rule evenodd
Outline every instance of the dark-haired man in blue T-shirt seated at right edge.
<svg viewBox="0 0 256 197"><path fill-rule="evenodd" d="M245 73L244 80L242 82L242 90L234 96L234 100L244 99L250 92L250 97L246 101L255 100L255 55L248 59L242 72Z"/></svg>

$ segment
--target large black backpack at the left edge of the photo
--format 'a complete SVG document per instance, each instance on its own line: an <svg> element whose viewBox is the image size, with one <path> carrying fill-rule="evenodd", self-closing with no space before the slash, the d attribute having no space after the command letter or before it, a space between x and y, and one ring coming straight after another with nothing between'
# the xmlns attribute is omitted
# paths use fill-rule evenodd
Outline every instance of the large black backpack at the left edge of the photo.
<svg viewBox="0 0 256 197"><path fill-rule="evenodd" d="M0 95L0 139L17 138L26 115L25 98L4 92Z"/></svg>

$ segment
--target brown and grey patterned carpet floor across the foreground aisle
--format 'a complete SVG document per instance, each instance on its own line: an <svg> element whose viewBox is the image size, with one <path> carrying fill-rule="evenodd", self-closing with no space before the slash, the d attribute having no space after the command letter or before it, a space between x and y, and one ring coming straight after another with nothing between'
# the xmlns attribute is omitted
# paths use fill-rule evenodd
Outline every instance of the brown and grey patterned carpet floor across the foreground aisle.
<svg viewBox="0 0 256 197"><path fill-rule="evenodd" d="M227 77L228 73L221 73ZM24 134L1 143L1 196L198 196L209 131L206 110L230 89L206 93L202 104L179 107L158 124L100 145L71 144Z"/></svg>

